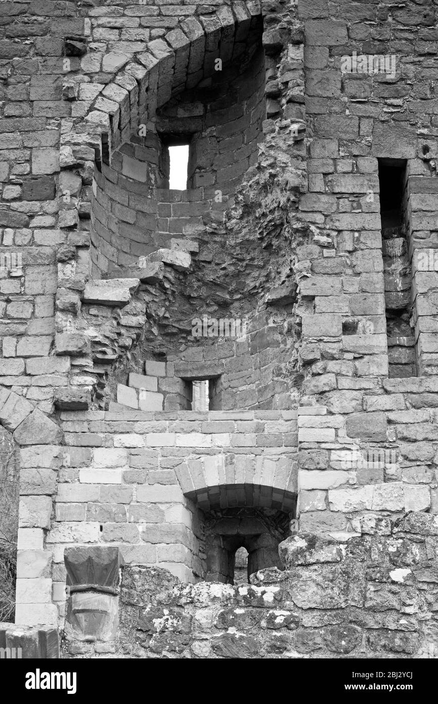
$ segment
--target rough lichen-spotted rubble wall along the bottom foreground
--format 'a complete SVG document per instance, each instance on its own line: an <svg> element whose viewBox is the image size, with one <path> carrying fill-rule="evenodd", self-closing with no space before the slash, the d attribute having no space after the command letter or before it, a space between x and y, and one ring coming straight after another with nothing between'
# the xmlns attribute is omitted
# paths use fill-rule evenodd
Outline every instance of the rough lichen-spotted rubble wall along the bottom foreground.
<svg viewBox="0 0 438 704"><path fill-rule="evenodd" d="M250 585L124 567L117 636L67 631L64 657L436 658L437 518L378 520L342 543L303 533Z"/></svg>

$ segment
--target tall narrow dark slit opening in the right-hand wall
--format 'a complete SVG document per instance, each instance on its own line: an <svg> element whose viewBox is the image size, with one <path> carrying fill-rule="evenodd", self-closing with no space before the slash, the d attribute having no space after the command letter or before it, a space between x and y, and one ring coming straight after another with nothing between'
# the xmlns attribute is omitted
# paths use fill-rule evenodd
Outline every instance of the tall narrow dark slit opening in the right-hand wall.
<svg viewBox="0 0 438 704"><path fill-rule="evenodd" d="M406 161L379 159L389 377L415 377L412 271L406 228Z"/></svg>

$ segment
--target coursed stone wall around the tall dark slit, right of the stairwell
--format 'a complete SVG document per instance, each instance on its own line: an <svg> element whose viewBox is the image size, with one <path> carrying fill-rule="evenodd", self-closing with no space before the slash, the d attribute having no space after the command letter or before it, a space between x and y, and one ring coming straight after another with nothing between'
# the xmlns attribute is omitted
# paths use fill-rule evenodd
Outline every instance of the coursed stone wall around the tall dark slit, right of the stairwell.
<svg viewBox="0 0 438 704"><path fill-rule="evenodd" d="M437 203L427 195L436 185L431 154L437 125L430 100L436 68L430 51L437 30L433 9L415 20L413 8L378 4L335 4L330 13L326 6L312 6L300 13L306 32L309 192L299 208L318 227L315 241L298 252L310 273L299 286L300 355L310 372L304 382L308 403L318 398L323 406L299 420L300 527L342 531L347 521L355 530L363 510L397 510L402 493L401 510L437 510L436 419L428 405L434 404L435 385L427 378L434 375L434 333L427 317L432 297L427 306L423 298L427 292L433 296L436 273L420 272L416 265L423 247L437 246ZM342 65L353 51L392 56L393 75L345 73ZM388 355L389 361L395 358L385 320L378 158L406 160L419 378L387 378ZM412 198L413 190L421 195ZM430 331L425 338L422 329ZM403 339L400 344L399 361L411 360L412 348L403 348ZM323 415L312 415L318 413ZM366 453L359 453L359 463L343 462L357 448L371 454L374 449L381 460L367 462ZM342 469L354 474L337 474Z"/></svg>

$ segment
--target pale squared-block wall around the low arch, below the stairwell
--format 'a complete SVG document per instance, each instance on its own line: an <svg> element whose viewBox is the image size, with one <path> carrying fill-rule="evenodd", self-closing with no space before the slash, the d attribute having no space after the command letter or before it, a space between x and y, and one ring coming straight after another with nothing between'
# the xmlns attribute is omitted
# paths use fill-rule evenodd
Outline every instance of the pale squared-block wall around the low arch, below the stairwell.
<svg viewBox="0 0 438 704"><path fill-rule="evenodd" d="M294 411L96 411L61 420L66 446L45 538L60 615L68 546L119 546L127 564L159 565L193 581L205 575L198 508L236 505L249 486L252 505L295 511Z"/></svg>

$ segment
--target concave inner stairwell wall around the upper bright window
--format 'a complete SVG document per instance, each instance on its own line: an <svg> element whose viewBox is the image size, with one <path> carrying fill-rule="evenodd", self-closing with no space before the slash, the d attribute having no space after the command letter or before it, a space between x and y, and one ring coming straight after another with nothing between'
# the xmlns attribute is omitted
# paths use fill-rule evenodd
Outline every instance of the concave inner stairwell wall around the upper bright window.
<svg viewBox="0 0 438 704"><path fill-rule="evenodd" d="M104 163L100 171L95 170L94 277L106 277L141 256L169 247L172 237L184 237L189 226L202 225L202 216L230 208L243 175L257 163L265 117L260 34L239 63L217 71L213 65L212 70L212 77L178 94L157 111L154 120L141 125L112 153L110 165ZM181 135L191 139L189 188L169 191L166 145Z"/></svg>

